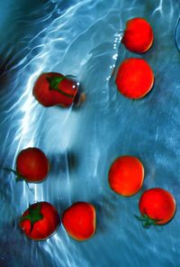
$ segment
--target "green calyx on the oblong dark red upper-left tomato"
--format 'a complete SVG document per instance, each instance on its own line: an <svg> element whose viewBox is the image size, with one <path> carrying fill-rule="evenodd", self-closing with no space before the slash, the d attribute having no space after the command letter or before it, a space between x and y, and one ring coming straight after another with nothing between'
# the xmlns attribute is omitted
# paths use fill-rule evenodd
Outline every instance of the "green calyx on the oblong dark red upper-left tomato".
<svg viewBox="0 0 180 267"><path fill-rule="evenodd" d="M69 95L66 92L62 91L61 89L59 89L59 84L61 83L61 81L65 78L70 78L70 77L75 77L73 75L67 75L67 76L62 76L62 77L51 77L51 78L47 78L47 80L49 81L49 89L50 90L54 90L54 91L58 91L58 93L66 96L66 97L70 97L73 98L75 97L74 95Z"/></svg>

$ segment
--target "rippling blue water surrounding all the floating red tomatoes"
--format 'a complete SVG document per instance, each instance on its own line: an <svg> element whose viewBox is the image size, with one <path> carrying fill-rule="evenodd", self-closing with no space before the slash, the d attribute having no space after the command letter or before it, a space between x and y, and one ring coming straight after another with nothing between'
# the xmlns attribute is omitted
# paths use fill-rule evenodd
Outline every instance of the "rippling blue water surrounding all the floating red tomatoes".
<svg viewBox="0 0 180 267"><path fill-rule="evenodd" d="M179 12L178 0L0 2L0 164L13 167L18 152L29 146L43 150L51 163L49 178L29 188L0 172L0 266L180 266ZM120 43L121 30L134 16L145 17L155 35L151 50L140 57L148 60L156 82L139 101L122 97L112 75L121 60L137 56ZM38 104L33 83L51 70L78 78L83 106ZM131 198L116 195L107 183L110 165L121 154L139 157L145 167L143 188ZM139 214L141 192L153 187L169 190L177 210L169 224L147 230L133 214ZM18 218L40 200L60 214L73 202L93 203L94 237L78 243L60 226L48 241L27 239Z"/></svg>

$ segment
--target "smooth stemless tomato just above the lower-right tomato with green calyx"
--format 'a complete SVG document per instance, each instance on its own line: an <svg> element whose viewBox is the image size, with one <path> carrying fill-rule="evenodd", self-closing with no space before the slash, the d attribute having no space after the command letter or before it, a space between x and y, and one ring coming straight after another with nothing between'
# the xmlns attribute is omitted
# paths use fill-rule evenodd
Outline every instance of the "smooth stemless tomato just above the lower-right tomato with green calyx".
<svg viewBox="0 0 180 267"><path fill-rule="evenodd" d="M109 170L111 189L125 197L136 194L144 180L142 163L132 156L121 156L113 161Z"/></svg>

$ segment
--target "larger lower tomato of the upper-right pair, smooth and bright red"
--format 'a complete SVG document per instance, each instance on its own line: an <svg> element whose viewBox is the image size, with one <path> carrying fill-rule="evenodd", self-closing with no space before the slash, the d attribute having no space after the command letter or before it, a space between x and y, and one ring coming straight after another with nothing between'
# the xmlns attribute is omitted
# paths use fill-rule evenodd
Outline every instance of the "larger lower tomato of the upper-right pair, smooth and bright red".
<svg viewBox="0 0 180 267"><path fill-rule="evenodd" d="M123 96L141 98L153 87L154 74L146 60L130 58L122 61L115 83Z"/></svg>

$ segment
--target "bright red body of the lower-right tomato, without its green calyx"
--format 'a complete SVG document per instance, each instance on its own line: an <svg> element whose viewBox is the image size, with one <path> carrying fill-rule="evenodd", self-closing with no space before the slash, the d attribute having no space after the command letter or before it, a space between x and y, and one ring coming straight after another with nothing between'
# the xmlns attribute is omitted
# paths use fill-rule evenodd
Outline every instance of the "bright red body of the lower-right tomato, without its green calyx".
<svg viewBox="0 0 180 267"><path fill-rule="evenodd" d="M148 189L139 199L139 211L157 220L157 225L164 225L175 215L175 198L165 189Z"/></svg>

